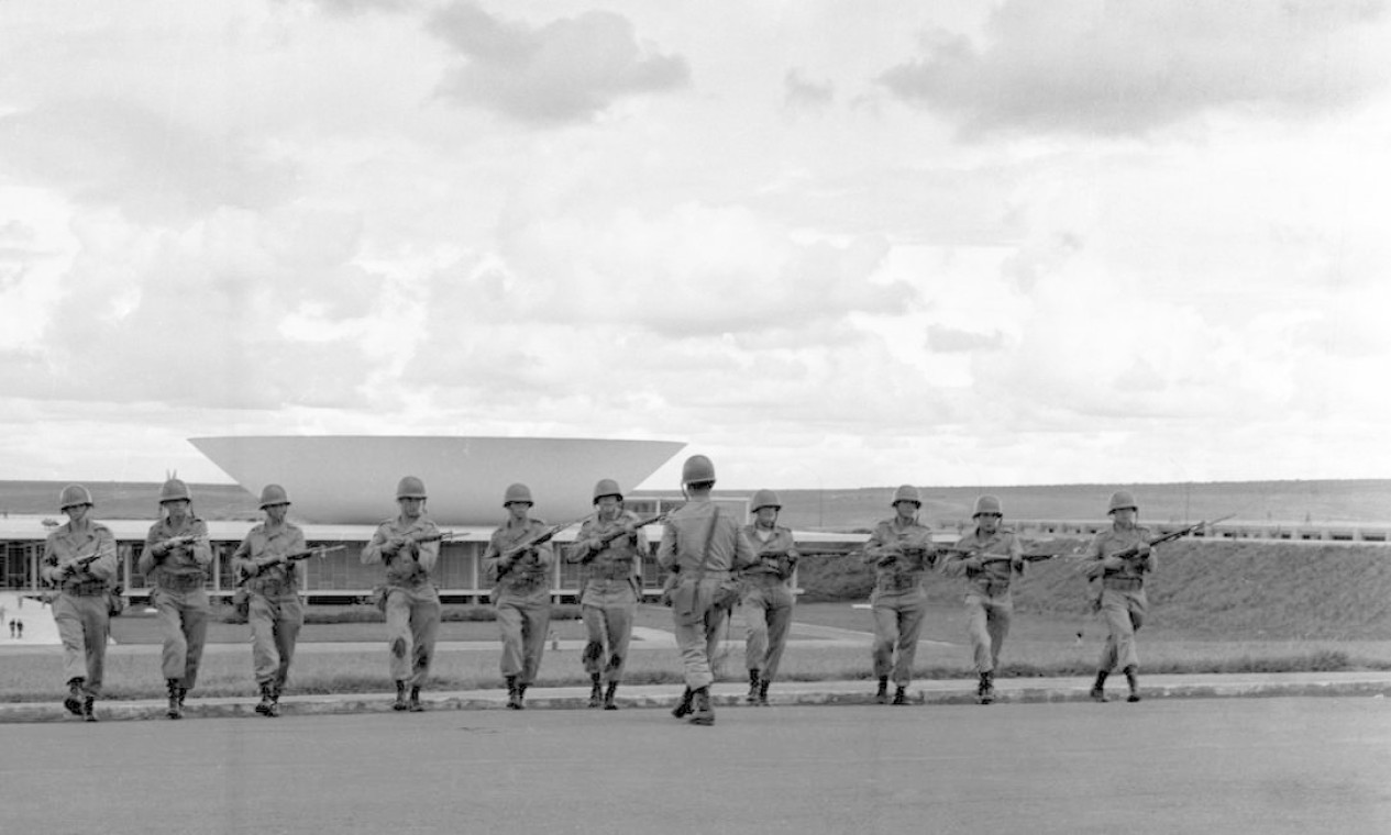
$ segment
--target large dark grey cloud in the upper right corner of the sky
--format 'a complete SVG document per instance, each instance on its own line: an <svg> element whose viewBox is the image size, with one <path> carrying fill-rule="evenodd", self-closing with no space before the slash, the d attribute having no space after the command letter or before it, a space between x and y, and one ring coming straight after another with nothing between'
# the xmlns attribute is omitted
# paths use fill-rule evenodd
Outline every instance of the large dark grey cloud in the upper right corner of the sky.
<svg viewBox="0 0 1391 835"><path fill-rule="evenodd" d="M1008 0L982 43L928 31L879 82L967 133L1142 133L1228 106L1324 111L1384 82L1381 18L1362 0Z"/></svg>

